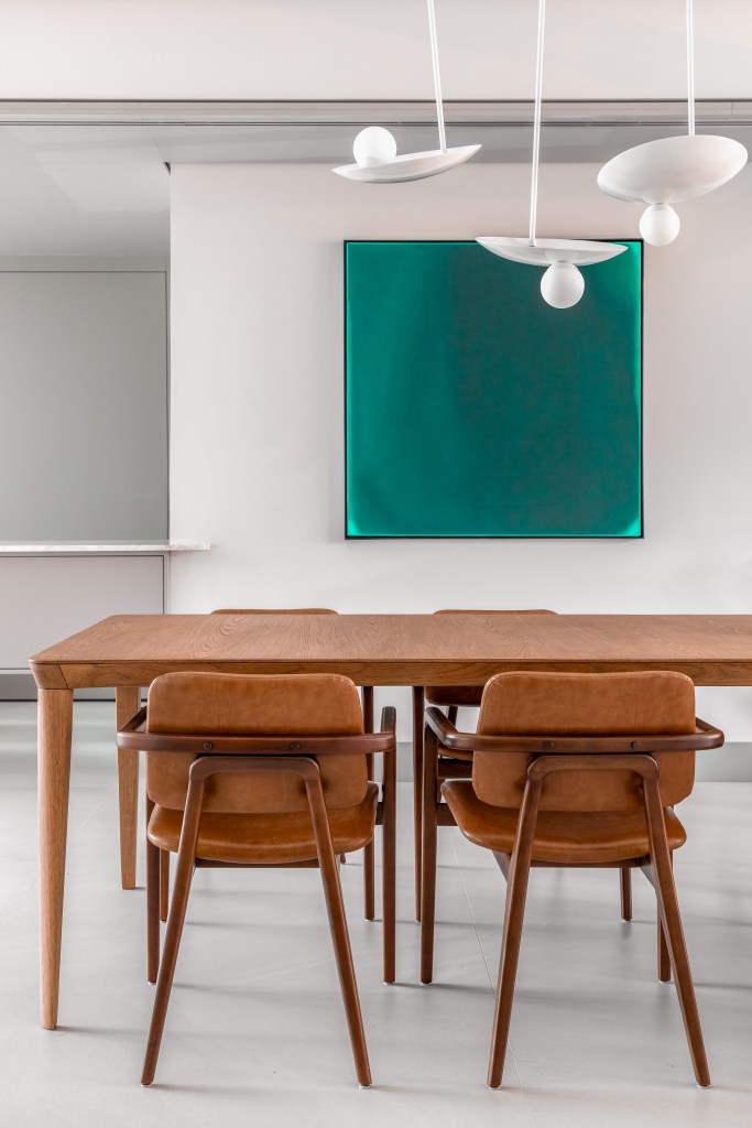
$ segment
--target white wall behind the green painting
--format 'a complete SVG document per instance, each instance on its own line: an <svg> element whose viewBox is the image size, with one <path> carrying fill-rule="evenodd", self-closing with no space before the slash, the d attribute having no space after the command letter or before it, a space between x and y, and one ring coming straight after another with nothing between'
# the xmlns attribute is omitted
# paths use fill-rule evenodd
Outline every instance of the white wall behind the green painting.
<svg viewBox="0 0 752 1128"><path fill-rule="evenodd" d="M595 171L543 167L541 235L635 235ZM171 536L215 545L174 561L172 610L752 611L750 173L646 252L644 540L343 539L343 239L523 233L528 176L468 165L374 188L317 166L172 168ZM389 696L406 733L407 697ZM751 691L701 706L752 740Z"/></svg>

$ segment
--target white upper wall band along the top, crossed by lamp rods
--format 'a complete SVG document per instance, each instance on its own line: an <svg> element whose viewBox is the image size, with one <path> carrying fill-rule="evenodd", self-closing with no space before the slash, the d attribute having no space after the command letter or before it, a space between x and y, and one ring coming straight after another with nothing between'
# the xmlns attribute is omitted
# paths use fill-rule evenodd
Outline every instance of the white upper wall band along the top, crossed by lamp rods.
<svg viewBox="0 0 752 1128"><path fill-rule="evenodd" d="M752 5L697 0L697 92L752 90ZM528 98L533 0L437 0L448 98ZM683 97L683 0L554 0L546 96ZM422 98L425 0L0 0L2 98Z"/></svg>

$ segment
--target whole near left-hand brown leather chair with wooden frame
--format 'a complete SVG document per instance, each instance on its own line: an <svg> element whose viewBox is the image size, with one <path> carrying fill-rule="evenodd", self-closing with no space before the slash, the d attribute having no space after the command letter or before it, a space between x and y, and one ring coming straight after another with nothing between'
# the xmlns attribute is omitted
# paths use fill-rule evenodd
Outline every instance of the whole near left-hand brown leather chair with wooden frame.
<svg viewBox="0 0 752 1128"><path fill-rule="evenodd" d="M395 711L365 733L356 686L334 673L166 673L117 734L147 754L149 981L157 995L142 1084L153 1081L194 867L318 866L355 1070L370 1085L336 855L383 827L383 977L395 981ZM383 756L383 784L366 757ZM177 873L159 960L159 852ZM158 978L157 978L158 972Z"/></svg>

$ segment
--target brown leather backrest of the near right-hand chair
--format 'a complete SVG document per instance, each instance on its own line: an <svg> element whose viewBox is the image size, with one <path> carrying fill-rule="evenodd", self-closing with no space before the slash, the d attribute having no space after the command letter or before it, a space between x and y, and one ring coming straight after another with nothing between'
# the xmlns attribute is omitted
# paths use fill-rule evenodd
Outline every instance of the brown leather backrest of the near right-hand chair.
<svg viewBox="0 0 752 1128"><path fill-rule="evenodd" d="M497 673L487 684L479 733L504 735L674 735L695 732L695 686L683 673ZM643 749L649 751L649 744ZM472 786L485 803L522 802L527 752L480 752ZM658 752L664 807L685 799L695 783L695 752ZM643 805L630 772L561 772L547 779L541 810L623 811Z"/></svg>

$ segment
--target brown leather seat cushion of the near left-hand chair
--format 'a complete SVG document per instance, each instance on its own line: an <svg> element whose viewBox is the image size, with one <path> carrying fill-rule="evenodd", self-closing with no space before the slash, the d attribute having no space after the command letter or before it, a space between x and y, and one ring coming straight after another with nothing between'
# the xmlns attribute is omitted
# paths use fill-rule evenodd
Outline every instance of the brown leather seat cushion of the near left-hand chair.
<svg viewBox="0 0 752 1128"><path fill-rule="evenodd" d="M373 838L379 787L368 785L357 807L328 809L335 854L361 849ZM183 811L154 807L149 819L149 839L160 849L176 853L180 844ZM277 814L220 814L201 819L196 856L211 862L284 865L316 858L313 827L308 811Z"/></svg>

